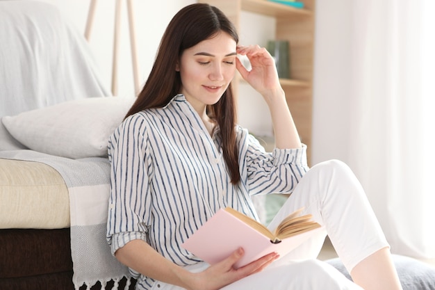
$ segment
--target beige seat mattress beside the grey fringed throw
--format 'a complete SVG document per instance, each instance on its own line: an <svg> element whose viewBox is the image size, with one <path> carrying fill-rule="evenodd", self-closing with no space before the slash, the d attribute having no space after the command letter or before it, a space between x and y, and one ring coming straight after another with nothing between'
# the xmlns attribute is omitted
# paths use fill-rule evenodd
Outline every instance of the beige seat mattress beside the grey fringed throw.
<svg viewBox="0 0 435 290"><path fill-rule="evenodd" d="M0 200L0 229L70 225L67 186L47 164L0 159Z"/></svg>

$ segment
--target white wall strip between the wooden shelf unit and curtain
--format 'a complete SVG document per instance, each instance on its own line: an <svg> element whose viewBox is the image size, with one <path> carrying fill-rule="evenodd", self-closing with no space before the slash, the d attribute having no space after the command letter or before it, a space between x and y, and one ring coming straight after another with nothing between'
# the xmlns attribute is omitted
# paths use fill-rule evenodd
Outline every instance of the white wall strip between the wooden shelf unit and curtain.
<svg viewBox="0 0 435 290"><path fill-rule="evenodd" d="M347 162L352 1L316 1L311 163Z"/></svg>

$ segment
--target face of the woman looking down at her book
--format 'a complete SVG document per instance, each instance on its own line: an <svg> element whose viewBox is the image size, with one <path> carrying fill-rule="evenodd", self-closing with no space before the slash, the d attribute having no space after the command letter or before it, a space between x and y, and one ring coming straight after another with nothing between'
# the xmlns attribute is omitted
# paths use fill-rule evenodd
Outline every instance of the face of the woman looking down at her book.
<svg viewBox="0 0 435 290"><path fill-rule="evenodd" d="M236 41L224 32L183 51L177 70L181 93L197 111L215 104L236 72ZM200 112L199 112L200 113Z"/></svg>

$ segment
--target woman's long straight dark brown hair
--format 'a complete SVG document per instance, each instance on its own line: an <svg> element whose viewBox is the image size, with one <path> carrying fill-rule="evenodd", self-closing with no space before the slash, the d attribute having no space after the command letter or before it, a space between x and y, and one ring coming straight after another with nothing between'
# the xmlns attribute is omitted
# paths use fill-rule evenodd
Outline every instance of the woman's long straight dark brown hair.
<svg viewBox="0 0 435 290"><path fill-rule="evenodd" d="M176 64L183 51L212 38L220 31L227 33L238 43L235 26L218 8L206 3L195 3L182 8L168 24L145 86L126 117L146 108L167 105L181 90L181 78L176 71ZM236 108L231 83L216 104L207 106L207 114L220 127L224 160L231 183L237 184L240 181L240 170L235 132Z"/></svg>

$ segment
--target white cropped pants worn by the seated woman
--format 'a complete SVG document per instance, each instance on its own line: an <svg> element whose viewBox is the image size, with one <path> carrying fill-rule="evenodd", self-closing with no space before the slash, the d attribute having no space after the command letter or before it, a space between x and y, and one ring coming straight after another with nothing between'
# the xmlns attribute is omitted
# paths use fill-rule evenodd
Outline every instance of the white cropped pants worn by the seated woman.
<svg viewBox="0 0 435 290"><path fill-rule="evenodd" d="M352 170L340 161L327 161L306 172L269 227L274 229L288 214L304 207L303 214L313 214L325 232L300 245L260 273L250 275L224 290L250 289L359 289L335 268L318 261L325 235L334 245L348 271L381 248L388 247L381 227ZM202 271L208 265L188 267ZM157 288L157 284L159 287ZM152 289L181 289L156 282Z"/></svg>

